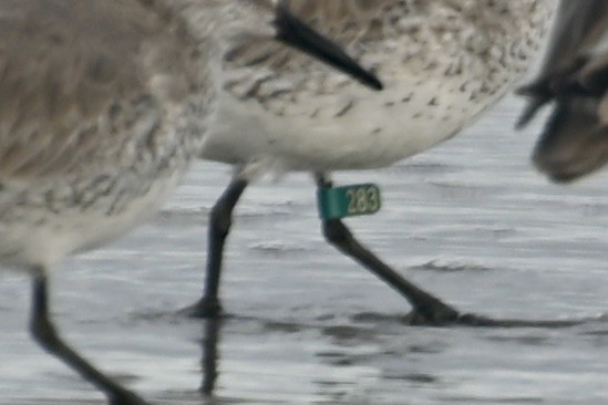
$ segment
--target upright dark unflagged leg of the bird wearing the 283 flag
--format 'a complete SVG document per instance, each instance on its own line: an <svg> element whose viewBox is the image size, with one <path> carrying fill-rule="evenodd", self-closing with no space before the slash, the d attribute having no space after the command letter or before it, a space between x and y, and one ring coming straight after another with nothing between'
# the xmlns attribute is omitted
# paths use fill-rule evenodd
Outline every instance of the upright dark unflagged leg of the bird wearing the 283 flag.
<svg viewBox="0 0 608 405"><path fill-rule="evenodd" d="M226 191L219 197L209 215L209 240L207 251L207 274L203 298L196 304L186 309L186 313L195 318L215 318L221 312L219 304L219 279L224 243L233 224L233 210L243 191L247 188L245 179L234 179Z"/></svg>

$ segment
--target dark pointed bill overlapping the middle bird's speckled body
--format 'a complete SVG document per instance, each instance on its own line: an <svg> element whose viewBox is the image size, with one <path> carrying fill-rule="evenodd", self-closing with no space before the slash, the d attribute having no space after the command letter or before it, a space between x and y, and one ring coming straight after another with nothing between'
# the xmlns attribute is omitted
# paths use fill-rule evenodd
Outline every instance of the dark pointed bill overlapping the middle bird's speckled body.
<svg viewBox="0 0 608 405"><path fill-rule="evenodd" d="M275 25L277 27L278 41L319 59L371 89L383 89L382 82L373 73L363 69L339 45L317 33L296 18L285 2L281 2L277 7Z"/></svg>

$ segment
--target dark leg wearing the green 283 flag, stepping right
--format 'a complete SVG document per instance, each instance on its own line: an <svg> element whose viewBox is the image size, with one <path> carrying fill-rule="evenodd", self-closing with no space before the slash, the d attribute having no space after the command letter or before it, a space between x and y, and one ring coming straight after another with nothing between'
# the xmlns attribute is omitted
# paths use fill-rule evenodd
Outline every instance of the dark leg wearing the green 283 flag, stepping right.
<svg viewBox="0 0 608 405"><path fill-rule="evenodd" d="M317 176L317 185L319 188L331 187L331 183L321 175ZM405 280L401 274L391 269L368 248L361 245L340 219L322 220L322 229L326 239L331 245L385 281L410 302L413 308L412 313L408 318L410 323L432 325L451 323L475 325L493 324L493 321L484 318L461 314L440 299Z"/></svg>

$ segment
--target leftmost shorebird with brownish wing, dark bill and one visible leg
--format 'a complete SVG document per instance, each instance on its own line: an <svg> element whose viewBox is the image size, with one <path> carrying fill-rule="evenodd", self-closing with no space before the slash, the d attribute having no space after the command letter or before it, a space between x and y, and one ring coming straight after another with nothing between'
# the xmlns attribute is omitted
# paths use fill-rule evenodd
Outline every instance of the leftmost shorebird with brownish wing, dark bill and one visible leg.
<svg viewBox="0 0 608 405"><path fill-rule="evenodd" d="M198 157L216 111L224 17L235 31L223 43L288 43L380 85L285 4L0 2L0 263L33 277L33 336L112 405L145 402L60 338L48 271L142 221Z"/></svg>

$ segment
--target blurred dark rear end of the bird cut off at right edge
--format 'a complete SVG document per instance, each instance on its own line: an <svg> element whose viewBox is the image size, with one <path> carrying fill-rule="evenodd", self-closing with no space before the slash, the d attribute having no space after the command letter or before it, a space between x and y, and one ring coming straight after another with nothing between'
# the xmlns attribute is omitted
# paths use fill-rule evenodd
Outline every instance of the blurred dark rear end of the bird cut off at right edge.
<svg viewBox="0 0 608 405"><path fill-rule="evenodd" d="M545 104L553 113L534 150L536 167L571 181L608 163L608 1L563 1L538 79L519 126Z"/></svg>

